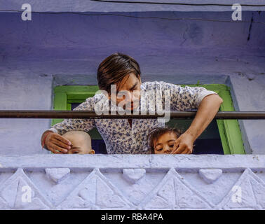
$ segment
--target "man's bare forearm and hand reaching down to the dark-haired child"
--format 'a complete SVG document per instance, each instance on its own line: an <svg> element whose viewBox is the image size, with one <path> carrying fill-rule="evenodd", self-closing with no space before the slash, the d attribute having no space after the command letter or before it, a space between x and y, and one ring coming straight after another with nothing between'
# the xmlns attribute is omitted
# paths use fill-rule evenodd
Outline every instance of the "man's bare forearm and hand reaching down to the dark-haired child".
<svg viewBox="0 0 265 224"><path fill-rule="evenodd" d="M172 154L192 153L193 142L211 123L222 102L222 98L217 94L210 94L203 98L191 126L175 141L175 149Z"/></svg>

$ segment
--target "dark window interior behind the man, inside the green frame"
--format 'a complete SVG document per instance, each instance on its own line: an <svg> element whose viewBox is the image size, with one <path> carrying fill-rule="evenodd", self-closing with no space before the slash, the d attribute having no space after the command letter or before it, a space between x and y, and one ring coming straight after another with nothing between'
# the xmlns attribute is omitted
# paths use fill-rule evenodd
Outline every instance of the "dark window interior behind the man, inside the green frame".
<svg viewBox="0 0 265 224"><path fill-rule="evenodd" d="M72 110L79 106L80 103L72 103ZM170 127L177 127L180 130L186 130L189 125L191 125L192 120L170 120L166 125ZM88 132L90 134L92 141L92 148L97 154L107 154L106 145L97 132L96 129ZM219 130L217 127L216 120L212 120L212 123L207 127L207 129L201 134L200 137L194 142L193 154L221 154L224 155L222 148L222 142L219 135Z"/></svg>

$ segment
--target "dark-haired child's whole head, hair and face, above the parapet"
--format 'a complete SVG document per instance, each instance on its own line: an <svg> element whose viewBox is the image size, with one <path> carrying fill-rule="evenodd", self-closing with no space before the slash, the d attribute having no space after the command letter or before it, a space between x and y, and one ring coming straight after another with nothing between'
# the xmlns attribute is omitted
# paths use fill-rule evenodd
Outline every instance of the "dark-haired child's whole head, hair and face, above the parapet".
<svg viewBox="0 0 265 224"><path fill-rule="evenodd" d="M149 148L153 154L169 154L181 132L172 127L155 127L148 134Z"/></svg>

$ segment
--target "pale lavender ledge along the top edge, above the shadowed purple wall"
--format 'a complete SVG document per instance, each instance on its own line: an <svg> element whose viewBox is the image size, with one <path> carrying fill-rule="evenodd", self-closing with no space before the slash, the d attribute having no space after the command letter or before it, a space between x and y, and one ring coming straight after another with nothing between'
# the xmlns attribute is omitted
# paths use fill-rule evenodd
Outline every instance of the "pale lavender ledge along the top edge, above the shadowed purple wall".
<svg viewBox="0 0 265 224"><path fill-rule="evenodd" d="M144 3L116 3L100 2L100 1L86 1L86 0L46 0L46 1L34 1L28 0L27 3L32 5L35 11L38 12L145 12L145 11L227 11L231 10L231 6L235 3L233 0L185 0L175 1L177 3L191 3L191 4L226 4L228 6L182 6L182 5L165 5L165 4L144 4ZM138 2L154 2L154 3L172 3L170 0L138 0ZM123 1L124 2L124 1ZM130 2L130 0L128 1ZM132 2L132 1L131 1ZM18 10L22 4L25 3L23 0L9 0L8 2L0 2L0 8L9 10ZM240 3L250 5L265 5L264 0L241 0ZM243 10L264 10L264 7L260 6L243 6Z"/></svg>

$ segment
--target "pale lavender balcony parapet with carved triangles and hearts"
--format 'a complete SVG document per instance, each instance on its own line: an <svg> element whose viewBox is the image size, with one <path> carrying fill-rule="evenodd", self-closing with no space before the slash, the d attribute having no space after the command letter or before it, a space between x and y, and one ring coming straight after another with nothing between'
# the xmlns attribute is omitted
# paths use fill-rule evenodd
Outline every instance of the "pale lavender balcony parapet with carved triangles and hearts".
<svg viewBox="0 0 265 224"><path fill-rule="evenodd" d="M0 209L265 209L264 155L20 155L0 164Z"/></svg>

